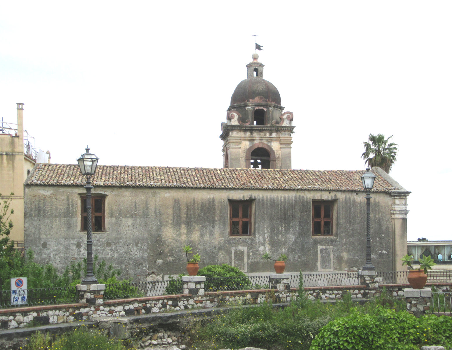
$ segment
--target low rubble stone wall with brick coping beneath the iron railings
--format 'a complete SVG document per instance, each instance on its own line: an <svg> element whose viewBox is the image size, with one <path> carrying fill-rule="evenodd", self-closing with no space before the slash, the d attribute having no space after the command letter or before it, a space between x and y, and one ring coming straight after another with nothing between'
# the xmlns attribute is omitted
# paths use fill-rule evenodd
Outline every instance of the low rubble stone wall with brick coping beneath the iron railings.
<svg viewBox="0 0 452 350"><path fill-rule="evenodd" d="M191 282L190 282L191 283ZM345 293L349 293L352 299L368 299L381 294L385 287L388 295L404 297L403 289L408 285L378 285L371 282L372 288L363 285L308 287L305 288L309 299L328 300L342 299ZM202 284L203 285L203 284ZM21 328L34 325L56 324L79 320L91 320L97 317L127 317L150 313L186 310L193 308L215 308L225 306L227 303L259 304L268 301L273 303L286 303L298 296L297 289L287 289L287 285L280 284L278 289L233 290L219 292L203 292L198 294L192 288L192 292L198 294L174 294L151 296L131 299L105 300L102 303L99 297L102 294L85 293L83 299L91 303L71 303L60 305L44 305L33 307L19 307L0 309L0 328ZM192 285L190 285L192 287ZM201 287L201 284L198 285ZM102 287L98 287L102 288ZM195 285L196 288L196 285ZM452 284L436 284L435 288L443 292L452 291ZM96 298L94 298L94 295ZM90 300L90 298L94 298ZM101 298L100 298L101 299ZM416 308L418 304L416 304ZM428 308L424 308L428 310ZM420 305L419 305L420 308Z"/></svg>

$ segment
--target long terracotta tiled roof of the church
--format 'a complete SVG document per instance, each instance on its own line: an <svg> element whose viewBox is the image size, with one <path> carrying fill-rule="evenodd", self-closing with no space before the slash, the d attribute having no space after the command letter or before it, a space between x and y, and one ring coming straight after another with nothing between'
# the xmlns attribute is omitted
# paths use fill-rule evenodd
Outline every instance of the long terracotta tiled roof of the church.
<svg viewBox="0 0 452 350"><path fill-rule="evenodd" d="M278 170L99 165L93 186L363 191L364 170ZM375 173L372 191L397 190ZM75 164L36 164L27 185L84 186Z"/></svg>

